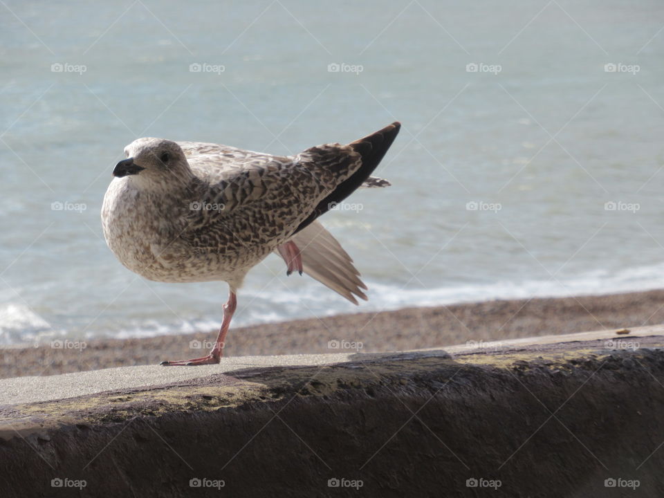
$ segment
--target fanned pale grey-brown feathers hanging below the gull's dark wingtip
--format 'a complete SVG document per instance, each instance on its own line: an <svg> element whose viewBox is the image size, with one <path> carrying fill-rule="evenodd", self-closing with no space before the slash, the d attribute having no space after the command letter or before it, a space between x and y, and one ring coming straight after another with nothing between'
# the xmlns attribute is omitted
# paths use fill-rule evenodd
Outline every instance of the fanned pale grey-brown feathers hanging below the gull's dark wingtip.
<svg viewBox="0 0 664 498"><path fill-rule="evenodd" d="M304 273L353 304L358 304L356 296L365 301L368 299L362 292L367 286L360 280L353 259L318 221L297 232L291 241L299 249ZM278 250L275 252L279 254Z"/></svg>

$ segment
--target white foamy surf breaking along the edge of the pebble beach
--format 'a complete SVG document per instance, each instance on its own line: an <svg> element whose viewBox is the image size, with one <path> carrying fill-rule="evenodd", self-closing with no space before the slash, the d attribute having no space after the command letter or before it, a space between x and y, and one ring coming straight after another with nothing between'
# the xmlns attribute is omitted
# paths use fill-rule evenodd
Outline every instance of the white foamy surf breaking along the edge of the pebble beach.
<svg viewBox="0 0 664 498"><path fill-rule="evenodd" d="M531 297L566 297L573 295L602 295L634 291L649 291L664 287L664 263L609 270L591 270L567 279L503 280L486 284L452 284L438 288L401 288L397 285L367 281L369 302L353 306L316 282L306 282L295 293L259 291L243 293L245 305L239 306L234 326L282 322L299 318L329 316L338 313L387 311L411 306L440 306L445 304L481 302L492 299L528 299ZM221 323L219 315L196 317L190 320L136 319L118 317L113 327L88 331L86 340L93 338L147 338L156 335L176 335L199 331L214 331ZM53 338L77 338L77 331L54 329L33 309L24 304L0 306L0 345L44 343Z"/></svg>

